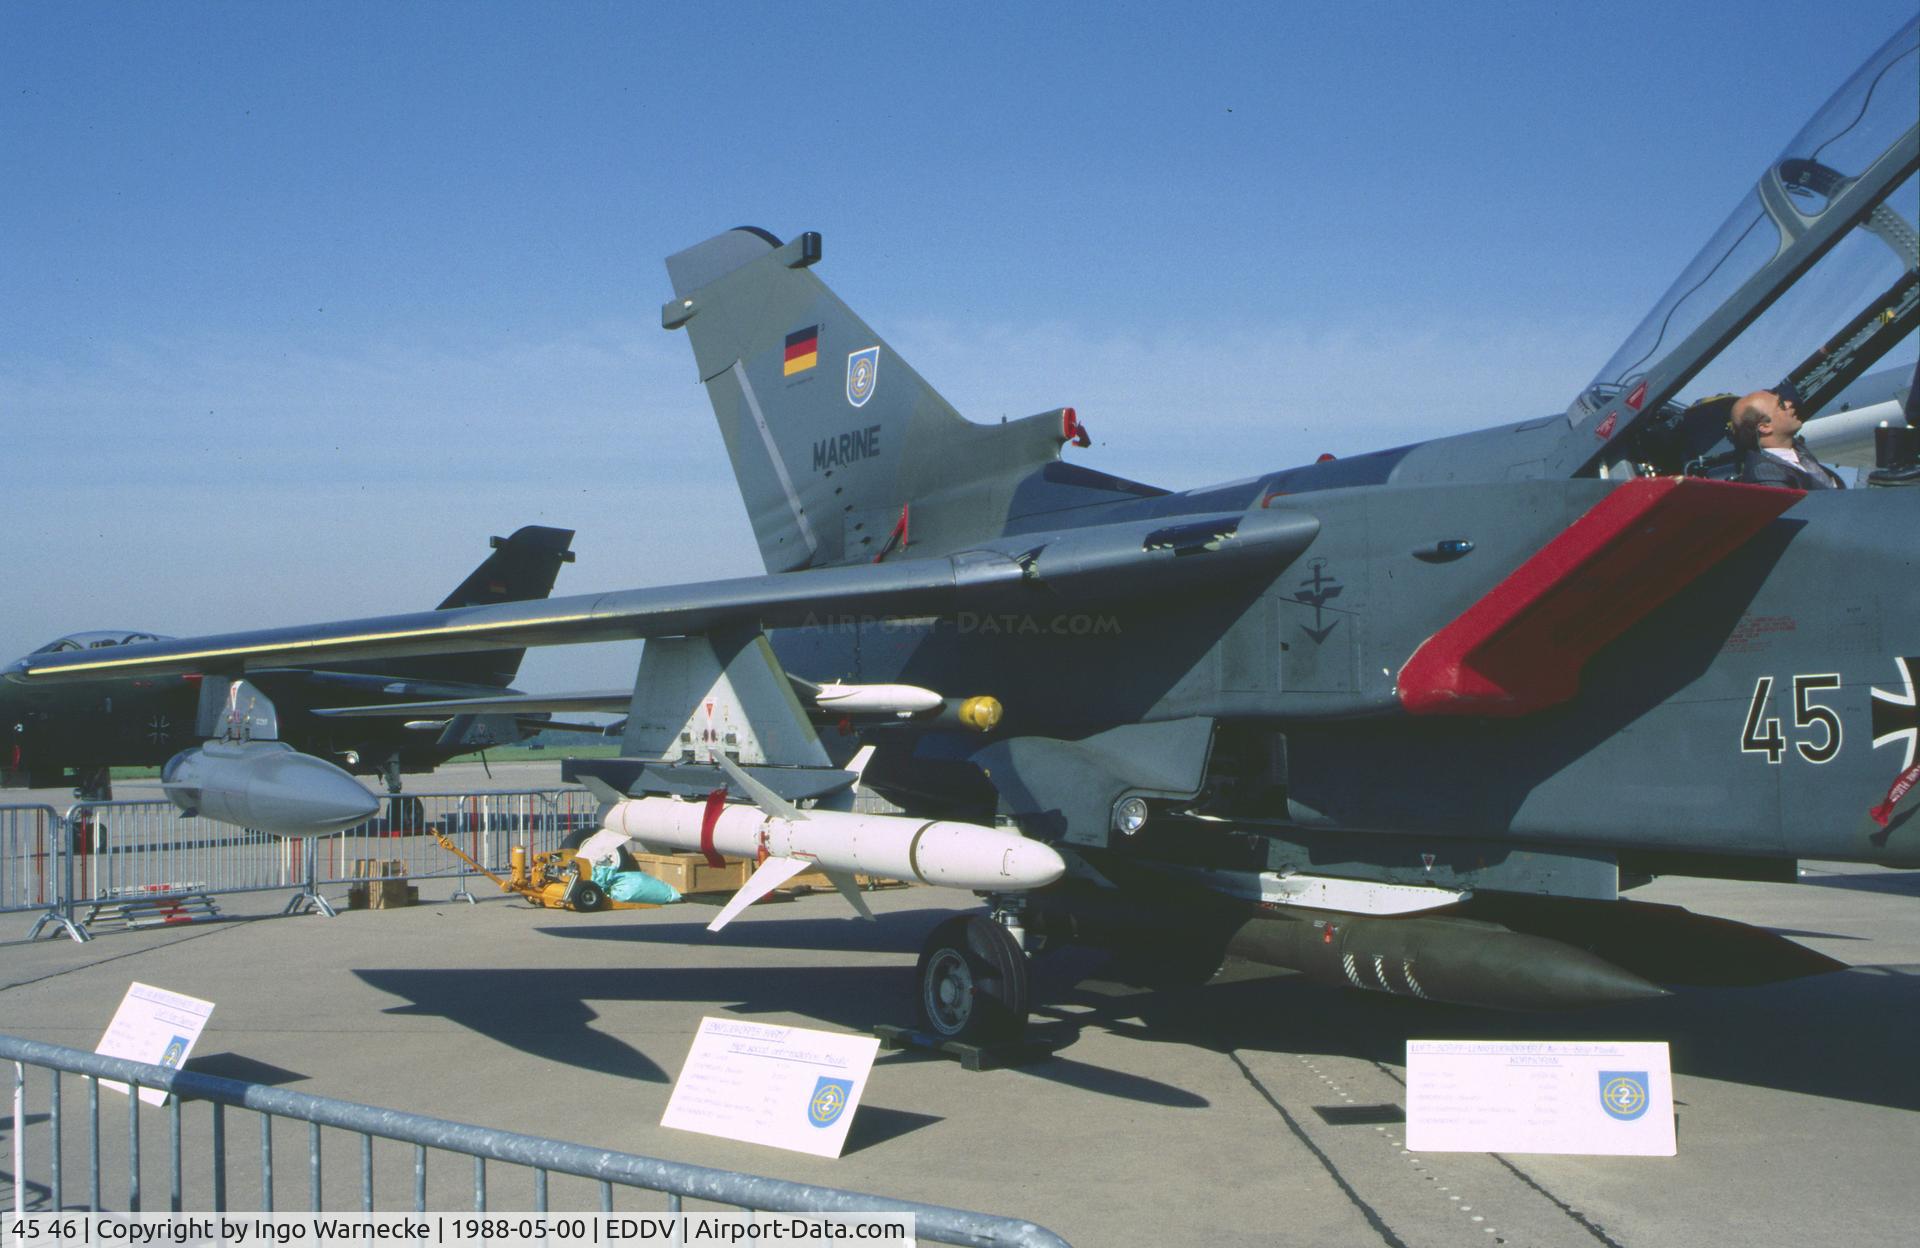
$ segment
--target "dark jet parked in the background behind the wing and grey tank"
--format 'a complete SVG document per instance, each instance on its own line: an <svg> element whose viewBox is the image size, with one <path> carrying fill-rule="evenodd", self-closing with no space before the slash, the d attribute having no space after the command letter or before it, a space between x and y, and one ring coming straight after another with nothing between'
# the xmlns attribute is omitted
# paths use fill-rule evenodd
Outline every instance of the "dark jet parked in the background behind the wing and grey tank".
<svg viewBox="0 0 1920 1248"><path fill-rule="evenodd" d="M530 524L511 538L493 538L486 561L440 603L484 607L541 599L553 589L563 563L572 563L570 528ZM35 655L108 649L156 641L146 632L81 632L50 641ZM319 718L313 707L394 703L499 693L520 670L524 651L438 655L317 668L267 668L248 680L273 699L280 735L296 749L330 758L363 776L384 774L390 789L403 772L430 772L455 755L518 741L540 724L532 716L463 714L442 720ZM202 724L200 672L134 680L94 680L58 689L29 689L0 682L0 785L56 787L73 783L83 795L111 793L109 768L159 766L211 732ZM217 712L219 697L211 699ZM205 732L204 732L205 730Z"/></svg>

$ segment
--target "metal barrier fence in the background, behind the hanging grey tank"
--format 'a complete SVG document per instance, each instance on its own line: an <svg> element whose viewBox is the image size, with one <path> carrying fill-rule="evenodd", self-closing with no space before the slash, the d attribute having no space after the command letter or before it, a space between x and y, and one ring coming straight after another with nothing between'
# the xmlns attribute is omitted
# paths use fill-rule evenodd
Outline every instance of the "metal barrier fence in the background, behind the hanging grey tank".
<svg viewBox="0 0 1920 1248"><path fill-rule="evenodd" d="M434 841L442 831L474 862L509 870L515 845L528 854L559 849L591 829L597 803L586 789L505 793L405 793L380 814L330 837L275 837L200 816L167 801L0 806L0 914L36 912L31 935L48 925L75 941L102 914L127 920L177 916L184 899L296 891L288 910L326 910L321 885L363 879L457 877L470 868ZM129 920L131 922L131 920Z"/></svg>

